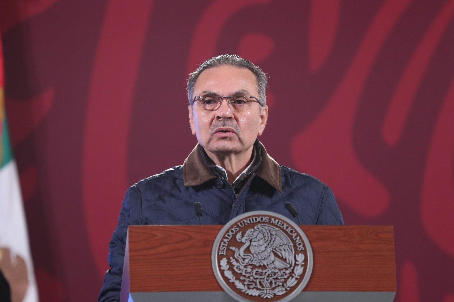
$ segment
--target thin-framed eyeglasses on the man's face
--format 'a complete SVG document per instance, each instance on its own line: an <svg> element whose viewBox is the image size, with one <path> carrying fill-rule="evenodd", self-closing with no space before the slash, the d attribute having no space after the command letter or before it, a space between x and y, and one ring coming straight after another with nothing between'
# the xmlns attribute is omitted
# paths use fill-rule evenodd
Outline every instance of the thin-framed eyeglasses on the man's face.
<svg viewBox="0 0 454 302"><path fill-rule="evenodd" d="M248 110L253 102L260 104L260 101L255 96L194 96L194 102L197 101L197 106L209 111L217 110L221 107L223 99L227 100L227 105L230 105L235 112Z"/></svg>

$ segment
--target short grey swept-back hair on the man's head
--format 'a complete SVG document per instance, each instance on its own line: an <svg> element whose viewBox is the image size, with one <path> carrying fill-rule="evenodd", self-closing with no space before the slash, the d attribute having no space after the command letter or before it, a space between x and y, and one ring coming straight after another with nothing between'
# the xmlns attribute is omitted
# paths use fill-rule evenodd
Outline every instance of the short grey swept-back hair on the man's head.
<svg viewBox="0 0 454 302"><path fill-rule="evenodd" d="M191 72L189 74L188 78L188 98L189 98L189 104L194 103L194 99L192 94L194 93L194 85L197 81L198 76L208 68L212 67L220 67L220 66L226 66L230 65L233 67L238 67L238 68L247 68L252 73L256 76L257 78L257 91L258 91L258 97L259 97L259 104L260 104L260 109L262 110L262 106L266 105L266 85L268 83L268 79L266 78L265 72L262 71L259 67L257 67L254 63L251 61L248 61L246 59L241 58L237 54L223 54L217 57L212 57L211 59L208 59L207 61L203 62L202 64L197 67L197 69L194 72Z"/></svg>

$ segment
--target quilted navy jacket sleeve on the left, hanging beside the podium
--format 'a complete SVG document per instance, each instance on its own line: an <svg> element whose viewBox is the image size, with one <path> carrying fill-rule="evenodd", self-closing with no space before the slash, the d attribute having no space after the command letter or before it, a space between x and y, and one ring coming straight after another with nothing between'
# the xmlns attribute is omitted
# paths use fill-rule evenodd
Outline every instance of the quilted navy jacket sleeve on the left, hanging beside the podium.
<svg viewBox="0 0 454 302"><path fill-rule="evenodd" d="M108 262L110 269L104 275L104 283L99 293L99 302L120 301L121 277L123 273L124 249L128 225L140 224L140 194L137 187L132 186L125 194L118 217L118 225L109 244Z"/></svg>

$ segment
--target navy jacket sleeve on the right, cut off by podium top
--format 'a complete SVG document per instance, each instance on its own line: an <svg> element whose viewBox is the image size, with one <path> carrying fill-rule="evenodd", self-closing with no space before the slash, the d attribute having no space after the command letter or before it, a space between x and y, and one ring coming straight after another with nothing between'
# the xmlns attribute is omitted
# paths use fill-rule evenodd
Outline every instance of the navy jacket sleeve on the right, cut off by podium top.
<svg viewBox="0 0 454 302"><path fill-rule="evenodd" d="M344 225L341 211L336 203L336 197L328 186L323 187L320 209L316 225Z"/></svg>

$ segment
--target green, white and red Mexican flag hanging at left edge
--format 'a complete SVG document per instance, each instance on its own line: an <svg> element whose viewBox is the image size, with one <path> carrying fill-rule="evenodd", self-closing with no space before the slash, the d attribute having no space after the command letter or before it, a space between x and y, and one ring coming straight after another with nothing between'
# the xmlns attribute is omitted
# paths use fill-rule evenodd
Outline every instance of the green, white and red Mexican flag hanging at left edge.
<svg viewBox="0 0 454 302"><path fill-rule="evenodd" d="M3 52L0 40L0 270L12 302L36 302L38 291L16 163L5 114Z"/></svg>

